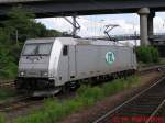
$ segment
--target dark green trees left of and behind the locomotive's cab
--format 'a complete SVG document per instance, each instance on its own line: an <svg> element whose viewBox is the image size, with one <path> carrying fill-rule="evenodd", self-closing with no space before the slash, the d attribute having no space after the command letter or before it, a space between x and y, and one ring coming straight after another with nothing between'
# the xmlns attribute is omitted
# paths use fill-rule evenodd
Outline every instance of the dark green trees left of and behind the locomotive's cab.
<svg viewBox="0 0 165 123"><path fill-rule="evenodd" d="M61 32L47 30L35 21L35 15L21 8L12 8L0 27L0 78L16 76L20 52L26 38L57 36Z"/></svg>

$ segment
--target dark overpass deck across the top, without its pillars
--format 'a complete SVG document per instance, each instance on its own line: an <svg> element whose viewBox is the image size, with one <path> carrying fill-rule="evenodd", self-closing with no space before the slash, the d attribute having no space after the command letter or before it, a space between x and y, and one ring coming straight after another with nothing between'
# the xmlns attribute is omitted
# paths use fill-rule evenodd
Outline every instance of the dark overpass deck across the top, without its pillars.
<svg viewBox="0 0 165 123"><path fill-rule="evenodd" d="M6 5L4 8L16 4L45 15L136 13L139 9L146 7L152 11L165 10L164 0L0 0L0 5Z"/></svg>

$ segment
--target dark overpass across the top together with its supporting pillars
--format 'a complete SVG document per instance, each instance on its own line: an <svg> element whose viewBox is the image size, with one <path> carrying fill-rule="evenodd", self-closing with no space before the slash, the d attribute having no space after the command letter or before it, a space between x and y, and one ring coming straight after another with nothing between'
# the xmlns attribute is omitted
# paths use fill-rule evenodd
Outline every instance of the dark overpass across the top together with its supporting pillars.
<svg viewBox="0 0 165 123"><path fill-rule="evenodd" d="M153 35L155 12L165 10L165 0L1 0L0 16L14 5L34 12L38 18L62 15L89 15L108 13L138 13L141 43L148 45Z"/></svg>

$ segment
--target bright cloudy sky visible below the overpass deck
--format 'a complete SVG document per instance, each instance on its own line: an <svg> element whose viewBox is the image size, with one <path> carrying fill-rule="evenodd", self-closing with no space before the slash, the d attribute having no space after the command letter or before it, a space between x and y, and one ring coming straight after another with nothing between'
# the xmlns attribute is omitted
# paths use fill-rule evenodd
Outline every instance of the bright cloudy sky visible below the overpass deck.
<svg viewBox="0 0 165 123"><path fill-rule="evenodd" d="M72 18L68 16L69 20ZM80 31L77 34L81 37L105 36L105 29L108 24L117 24L118 27L110 32L110 35L134 34L140 32L140 18L132 14L102 14L77 16ZM61 32L70 33L73 26L64 18L38 19L47 29L55 29ZM154 18L154 32L165 33L165 12L157 12Z"/></svg>

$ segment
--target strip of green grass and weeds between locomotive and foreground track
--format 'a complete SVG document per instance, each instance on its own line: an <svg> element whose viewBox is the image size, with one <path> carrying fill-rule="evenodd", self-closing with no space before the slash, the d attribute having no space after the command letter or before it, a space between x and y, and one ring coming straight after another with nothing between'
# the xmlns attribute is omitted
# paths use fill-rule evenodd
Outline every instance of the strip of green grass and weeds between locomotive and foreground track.
<svg viewBox="0 0 165 123"><path fill-rule="evenodd" d="M140 78L136 76L128 79L117 79L112 82L107 82L101 87L81 86L77 96L65 101L47 99L41 110L19 118L14 123L56 123L67 115L80 111L85 108L96 104L97 101L112 96L124 89L135 87L140 83Z"/></svg>

